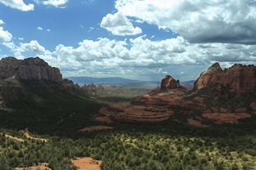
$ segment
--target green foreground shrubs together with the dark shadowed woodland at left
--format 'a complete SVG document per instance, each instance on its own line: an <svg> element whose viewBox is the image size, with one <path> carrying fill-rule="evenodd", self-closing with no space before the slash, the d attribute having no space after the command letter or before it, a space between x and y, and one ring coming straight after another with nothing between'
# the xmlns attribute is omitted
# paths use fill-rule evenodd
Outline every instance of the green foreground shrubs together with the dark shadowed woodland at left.
<svg viewBox="0 0 256 170"><path fill-rule="evenodd" d="M34 103L0 110L0 170L39 163L49 163L53 170L73 170L71 159L76 157L100 159L107 170L256 169L256 118L213 128L167 121L79 132L98 125L92 119L102 103L70 93L37 94ZM24 128L47 141L27 139L18 132Z"/></svg>

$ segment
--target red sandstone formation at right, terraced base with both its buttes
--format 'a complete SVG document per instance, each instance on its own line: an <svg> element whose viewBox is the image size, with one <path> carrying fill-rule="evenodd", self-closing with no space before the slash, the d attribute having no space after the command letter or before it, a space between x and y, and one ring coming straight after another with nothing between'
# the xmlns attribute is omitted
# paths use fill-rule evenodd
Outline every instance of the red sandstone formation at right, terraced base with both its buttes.
<svg viewBox="0 0 256 170"><path fill-rule="evenodd" d="M238 123L239 119L256 113L255 92L254 65L233 65L223 70L216 63L200 74L192 91L167 75L162 78L160 88L136 97L130 105L103 107L95 120L105 123L175 121L202 127L214 123ZM232 99L250 93L253 97L249 103L229 104Z"/></svg>

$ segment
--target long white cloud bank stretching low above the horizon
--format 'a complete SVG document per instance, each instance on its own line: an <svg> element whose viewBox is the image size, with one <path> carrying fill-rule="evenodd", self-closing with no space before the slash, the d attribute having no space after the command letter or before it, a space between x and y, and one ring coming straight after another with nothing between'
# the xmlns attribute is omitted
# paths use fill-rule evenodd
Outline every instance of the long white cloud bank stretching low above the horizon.
<svg viewBox="0 0 256 170"><path fill-rule="evenodd" d="M78 47L60 44L54 51L48 51L35 40L18 46L13 42L4 44L16 55L34 52L50 65L59 67L65 76L150 79L160 75L160 79L168 73L188 80L197 78L205 66L214 62L220 62L225 67L235 63L248 65L256 62L256 45L190 43L181 36L162 41L153 41L145 36L124 41L85 39ZM186 68L190 68L190 71L186 71Z"/></svg>

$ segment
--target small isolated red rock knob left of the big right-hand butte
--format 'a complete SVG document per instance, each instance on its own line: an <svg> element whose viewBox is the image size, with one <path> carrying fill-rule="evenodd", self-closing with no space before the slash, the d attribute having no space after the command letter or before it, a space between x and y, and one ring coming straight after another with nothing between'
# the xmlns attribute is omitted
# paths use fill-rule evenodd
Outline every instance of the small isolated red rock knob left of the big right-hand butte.
<svg viewBox="0 0 256 170"><path fill-rule="evenodd" d="M166 75L164 78L162 78L160 86L161 91L167 91L178 87L181 87L179 80L172 78L171 75Z"/></svg>

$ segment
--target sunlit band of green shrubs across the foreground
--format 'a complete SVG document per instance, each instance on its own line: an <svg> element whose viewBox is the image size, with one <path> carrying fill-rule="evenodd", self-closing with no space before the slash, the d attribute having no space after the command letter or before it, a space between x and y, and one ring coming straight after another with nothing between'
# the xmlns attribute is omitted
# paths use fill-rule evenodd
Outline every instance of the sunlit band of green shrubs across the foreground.
<svg viewBox="0 0 256 170"><path fill-rule="evenodd" d="M67 131L65 136L43 137L48 141L0 136L0 169L39 163L57 170L75 169L71 165L75 157L101 159L101 167L109 170L256 168L255 134L232 127L116 125L116 130L105 132Z"/></svg>

